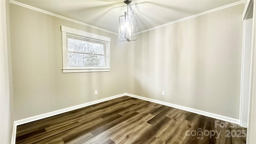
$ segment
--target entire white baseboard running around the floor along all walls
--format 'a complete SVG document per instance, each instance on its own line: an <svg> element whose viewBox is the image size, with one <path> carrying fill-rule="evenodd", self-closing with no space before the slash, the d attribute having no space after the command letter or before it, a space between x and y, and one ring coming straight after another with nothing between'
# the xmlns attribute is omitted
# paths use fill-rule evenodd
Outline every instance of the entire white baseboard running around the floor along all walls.
<svg viewBox="0 0 256 144"><path fill-rule="evenodd" d="M234 124L240 124L240 120L238 120L238 119L229 118L229 117L221 116L221 115L218 115L218 114L212 114L210 112L204 112L202 110L196 110L196 109L188 108L188 107L185 107L185 106L179 106L179 105L171 104L171 103L168 103L168 102L162 102L160 100L154 100L154 99L151 99L151 98L136 96L134 94L124 93L124 94L118 94L116 96L111 96L111 97L108 97L108 98L103 98L103 99L100 99L100 100L95 100L95 101L92 101L92 102L87 102L87 103L80 104L80 105L77 105L77 106L72 106L72 107L69 107L69 108L56 110L56 111L53 111L53 112L48 112L46 114L40 114L38 116L32 116L32 117L29 117L29 118L24 118L22 120L16 120L16 121L14 121L14 124L13 124L12 143L11 144L15 144L15 142L16 142L16 129L17 129L18 125L25 124L25 123L28 123L28 122L33 122L33 121L40 120L40 119L43 119L43 118L47 118L47 117L50 117L50 116L55 116L57 114L62 114L64 112L69 112L71 110L76 110L78 108L83 108L83 107L90 106L92 104L97 104L97 103L100 103L100 102L104 102L104 101L107 101L107 100L112 100L114 98L119 98L121 96L131 96L131 97L138 98L138 99L141 99L141 100L146 100L146 101L149 101L149 102L154 102L154 103L157 103L157 104L162 104L162 105L170 106L170 107L173 107L173 108L186 110L188 112L201 114L201 115L208 116L208 117L211 117L211 118L216 118L216 119L219 119L219 120L232 122Z"/></svg>

